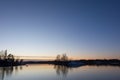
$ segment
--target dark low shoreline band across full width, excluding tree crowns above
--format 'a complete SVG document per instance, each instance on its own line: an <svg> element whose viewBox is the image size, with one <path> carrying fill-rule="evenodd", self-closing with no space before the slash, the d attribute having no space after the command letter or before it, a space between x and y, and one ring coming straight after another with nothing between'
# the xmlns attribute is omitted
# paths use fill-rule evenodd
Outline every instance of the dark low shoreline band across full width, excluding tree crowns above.
<svg viewBox="0 0 120 80"><path fill-rule="evenodd" d="M95 66L120 66L119 59L96 59L96 60L68 60L68 61L14 61L14 60L0 60L0 67L19 66L27 64L52 64L66 67L79 67L85 65Z"/></svg>

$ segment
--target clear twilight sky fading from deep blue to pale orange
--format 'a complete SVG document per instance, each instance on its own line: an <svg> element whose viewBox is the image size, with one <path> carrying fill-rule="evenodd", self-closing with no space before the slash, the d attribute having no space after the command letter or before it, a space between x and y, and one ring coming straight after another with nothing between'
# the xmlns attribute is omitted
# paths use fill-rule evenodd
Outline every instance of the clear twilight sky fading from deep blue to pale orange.
<svg viewBox="0 0 120 80"><path fill-rule="evenodd" d="M120 0L0 0L0 50L120 58Z"/></svg>

